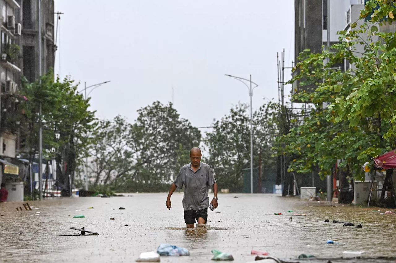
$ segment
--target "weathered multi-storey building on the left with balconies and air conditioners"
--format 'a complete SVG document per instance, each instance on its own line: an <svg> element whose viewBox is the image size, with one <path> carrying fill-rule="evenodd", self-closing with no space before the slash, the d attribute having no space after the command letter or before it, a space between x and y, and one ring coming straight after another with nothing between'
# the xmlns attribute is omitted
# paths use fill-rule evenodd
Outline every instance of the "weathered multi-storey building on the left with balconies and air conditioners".
<svg viewBox="0 0 396 263"><path fill-rule="evenodd" d="M41 0L42 73L54 66L54 1ZM15 110L21 76L38 79L38 1L0 0L0 156L15 158L20 149ZM23 94L20 94L23 95Z"/></svg>

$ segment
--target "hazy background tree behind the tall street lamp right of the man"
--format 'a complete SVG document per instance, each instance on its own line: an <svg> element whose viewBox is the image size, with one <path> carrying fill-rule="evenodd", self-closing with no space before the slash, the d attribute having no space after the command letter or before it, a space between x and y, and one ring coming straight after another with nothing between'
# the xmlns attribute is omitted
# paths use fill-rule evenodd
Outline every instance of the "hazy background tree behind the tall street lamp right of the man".
<svg viewBox="0 0 396 263"><path fill-rule="evenodd" d="M272 118L274 104L262 106L253 113L253 166L257 167L259 154L263 167L273 167L272 143L276 125ZM250 117L246 105L237 105L229 115L215 120L213 130L206 134L209 164L215 171L220 188L241 192L242 169L250 168Z"/></svg>

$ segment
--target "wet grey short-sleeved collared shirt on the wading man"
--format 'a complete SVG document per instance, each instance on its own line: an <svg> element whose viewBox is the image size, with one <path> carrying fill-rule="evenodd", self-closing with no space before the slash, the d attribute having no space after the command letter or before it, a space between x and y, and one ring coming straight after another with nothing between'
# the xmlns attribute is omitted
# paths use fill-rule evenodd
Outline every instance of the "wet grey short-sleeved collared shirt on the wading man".
<svg viewBox="0 0 396 263"><path fill-rule="evenodd" d="M173 181L176 187L185 185L183 208L184 210L200 210L209 207L208 188L216 182L212 171L206 163L200 162L198 170L194 173L191 163L181 167L179 175Z"/></svg>

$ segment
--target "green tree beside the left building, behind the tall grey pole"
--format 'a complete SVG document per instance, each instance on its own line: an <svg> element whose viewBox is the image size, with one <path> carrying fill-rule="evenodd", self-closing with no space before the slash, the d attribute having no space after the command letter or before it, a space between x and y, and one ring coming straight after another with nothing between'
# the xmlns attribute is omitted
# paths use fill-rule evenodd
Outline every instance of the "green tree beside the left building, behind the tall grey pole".
<svg viewBox="0 0 396 263"><path fill-rule="evenodd" d="M94 112L89 111L89 100L76 93L77 86L70 77L62 81L49 72L41 83L23 80L21 92L27 97L23 104L23 152L32 161L38 153L38 124L43 127L43 157L57 161L57 184L63 195L69 196L69 175L74 180L76 167L87 156L88 133L95 126ZM63 163L66 163L64 169Z"/></svg>

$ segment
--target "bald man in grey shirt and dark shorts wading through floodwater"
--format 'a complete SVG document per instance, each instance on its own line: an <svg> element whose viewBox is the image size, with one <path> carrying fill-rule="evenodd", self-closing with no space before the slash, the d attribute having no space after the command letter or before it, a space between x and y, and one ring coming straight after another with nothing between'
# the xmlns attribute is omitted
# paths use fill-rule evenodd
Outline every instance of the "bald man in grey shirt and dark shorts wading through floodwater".
<svg viewBox="0 0 396 263"><path fill-rule="evenodd" d="M190 150L189 164L181 167L179 175L173 182L166 199L166 207L170 210L171 195L175 192L176 187L182 188L185 185L183 208L184 221L187 228L194 228L195 220L198 224L206 224L208 219L209 197L208 188L213 187L213 200L210 202L214 208L217 204L217 182L212 175L212 171L206 163L201 162L201 150L194 147Z"/></svg>

